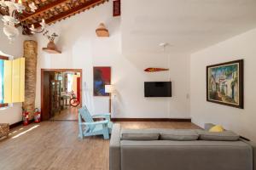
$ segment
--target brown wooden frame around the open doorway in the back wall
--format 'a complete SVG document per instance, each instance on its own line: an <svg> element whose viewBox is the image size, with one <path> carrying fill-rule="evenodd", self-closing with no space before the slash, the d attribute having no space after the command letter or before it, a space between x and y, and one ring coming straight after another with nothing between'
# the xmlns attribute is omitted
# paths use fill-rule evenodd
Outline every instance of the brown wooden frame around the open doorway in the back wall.
<svg viewBox="0 0 256 170"><path fill-rule="evenodd" d="M44 114L44 72L79 72L81 77L81 91L83 90L83 70L82 69L41 69L41 114ZM83 91L81 92L81 99L80 104L82 105L82 95Z"/></svg>

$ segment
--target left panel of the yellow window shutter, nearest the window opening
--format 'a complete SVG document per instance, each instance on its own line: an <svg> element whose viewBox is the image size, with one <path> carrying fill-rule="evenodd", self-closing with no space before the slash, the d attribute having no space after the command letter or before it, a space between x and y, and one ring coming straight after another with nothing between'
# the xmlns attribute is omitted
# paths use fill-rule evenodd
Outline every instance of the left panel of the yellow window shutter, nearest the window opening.
<svg viewBox="0 0 256 170"><path fill-rule="evenodd" d="M3 101L12 103L12 72L13 62L11 60L3 61Z"/></svg>

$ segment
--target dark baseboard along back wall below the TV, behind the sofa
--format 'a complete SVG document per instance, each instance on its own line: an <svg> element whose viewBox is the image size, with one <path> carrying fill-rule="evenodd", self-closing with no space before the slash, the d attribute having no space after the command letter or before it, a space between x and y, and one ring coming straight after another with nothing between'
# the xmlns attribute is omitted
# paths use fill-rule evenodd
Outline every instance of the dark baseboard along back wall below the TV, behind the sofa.
<svg viewBox="0 0 256 170"><path fill-rule="evenodd" d="M113 122L191 122L190 118L111 118Z"/></svg>

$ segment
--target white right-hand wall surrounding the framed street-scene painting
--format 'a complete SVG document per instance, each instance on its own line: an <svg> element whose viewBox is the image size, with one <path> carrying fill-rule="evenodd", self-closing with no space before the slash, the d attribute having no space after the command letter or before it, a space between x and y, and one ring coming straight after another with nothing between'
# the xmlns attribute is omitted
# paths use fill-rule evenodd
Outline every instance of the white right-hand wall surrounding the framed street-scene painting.
<svg viewBox="0 0 256 170"><path fill-rule="evenodd" d="M221 124L256 141L256 29L220 42L191 55L191 116L203 126L205 122ZM244 108L207 102L206 66L244 59Z"/></svg>

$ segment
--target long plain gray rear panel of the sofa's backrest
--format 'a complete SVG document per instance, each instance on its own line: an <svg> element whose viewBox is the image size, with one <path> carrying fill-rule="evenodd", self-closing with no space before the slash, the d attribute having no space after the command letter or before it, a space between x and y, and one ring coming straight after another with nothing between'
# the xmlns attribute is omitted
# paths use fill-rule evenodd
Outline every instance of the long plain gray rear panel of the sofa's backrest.
<svg viewBox="0 0 256 170"><path fill-rule="evenodd" d="M120 141L121 170L253 170L252 147L242 141Z"/></svg>

